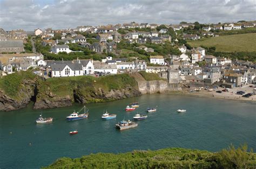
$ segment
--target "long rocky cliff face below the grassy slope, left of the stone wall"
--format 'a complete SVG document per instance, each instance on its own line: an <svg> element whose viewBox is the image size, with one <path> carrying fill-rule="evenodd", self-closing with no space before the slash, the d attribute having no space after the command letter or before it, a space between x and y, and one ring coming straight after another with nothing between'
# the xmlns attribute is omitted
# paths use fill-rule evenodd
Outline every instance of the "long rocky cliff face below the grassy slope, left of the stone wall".
<svg viewBox="0 0 256 169"><path fill-rule="evenodd" d="M72 94L65 96L58 96L53 94L50 90L38 89L34 109L66 107L72 105L74 102L81 104L106 102L140 95L142 95L142 93L133 87L126 87L125 89L113 89L110 91L102 88L91 88L90 90L76 88L73 90Z"/></svg>

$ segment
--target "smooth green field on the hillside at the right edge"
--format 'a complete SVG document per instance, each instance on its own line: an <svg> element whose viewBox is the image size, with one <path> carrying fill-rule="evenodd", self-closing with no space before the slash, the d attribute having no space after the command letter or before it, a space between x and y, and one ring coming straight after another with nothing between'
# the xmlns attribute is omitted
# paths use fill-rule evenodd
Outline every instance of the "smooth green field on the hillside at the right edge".
<svg viewBox="0 0 256 169"><path fill-rule="evenodd" d="M192 47L216 47L216 52L255 52L256 33L234 34L228 36L188 41Z"/></svg>

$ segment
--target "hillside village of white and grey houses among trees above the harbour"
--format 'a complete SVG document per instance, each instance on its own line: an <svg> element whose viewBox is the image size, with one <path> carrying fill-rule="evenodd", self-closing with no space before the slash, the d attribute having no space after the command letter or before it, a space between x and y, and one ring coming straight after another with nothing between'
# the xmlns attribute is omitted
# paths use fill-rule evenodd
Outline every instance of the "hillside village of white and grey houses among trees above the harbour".
<svg viewBox="0 0 256 169"><path fill-rule="evenodd" d="M0 29L1 76L35 69L43 79L145 71L169 83L208 83L227 88L256 84L256 63L213 55L186 40L214 38L256 22L160 25L124 23L75 29Z"/></svg>

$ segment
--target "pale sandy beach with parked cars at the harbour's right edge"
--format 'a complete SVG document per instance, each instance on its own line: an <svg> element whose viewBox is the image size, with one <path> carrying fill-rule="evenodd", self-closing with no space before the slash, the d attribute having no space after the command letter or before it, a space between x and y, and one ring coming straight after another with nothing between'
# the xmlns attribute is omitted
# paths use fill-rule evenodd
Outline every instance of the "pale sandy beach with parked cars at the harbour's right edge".
<svg viewBox="0 0 256 169"><path fill-rule="evenodd" d="M233 89L230 89L230 91L223 91L222 93L217 93L218 90L223 90L224 88L219 87L218 89L213 89L213 91L208 91L205 89L201 89L200 91L192 91L190 92L190 89L183 90L184 94L188 95L194 95L198 97L214 97L214 98L221 98L225 100L237 100L237 101L250 101L255 102L256 101L256 95L253 95L251 97L242 97L242 95L236 94L237 91L245 91L245 94L247 93L253 93L253 88L249 87L249 85L245 85L242 87L235 87ZM254 90L254 92L256 92Z"/></svg>

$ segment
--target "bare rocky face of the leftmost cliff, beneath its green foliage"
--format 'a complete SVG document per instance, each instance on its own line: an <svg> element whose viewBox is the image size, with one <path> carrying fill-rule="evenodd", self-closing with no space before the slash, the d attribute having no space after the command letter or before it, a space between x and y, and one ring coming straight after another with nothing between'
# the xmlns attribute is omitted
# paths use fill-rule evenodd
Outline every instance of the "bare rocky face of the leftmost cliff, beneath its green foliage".
<svg viewBox="0 0 256 169"><path fill-rule="evenodd" d="M17 110L26 107L35 95L36 80L23 80L16 96L6 95L0 90L0 111Z"/></svg>

